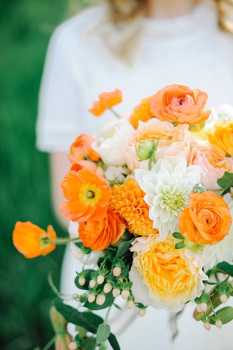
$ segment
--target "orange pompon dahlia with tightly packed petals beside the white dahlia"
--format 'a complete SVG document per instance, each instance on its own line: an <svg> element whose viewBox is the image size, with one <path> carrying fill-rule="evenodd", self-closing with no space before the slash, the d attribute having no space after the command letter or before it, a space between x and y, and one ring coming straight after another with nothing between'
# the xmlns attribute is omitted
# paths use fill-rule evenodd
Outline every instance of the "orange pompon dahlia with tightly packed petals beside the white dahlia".
<svg viewBox="0 0 233 350"><path fill-rule="evenodd" d="M149 206L143 199L144 195L145 193L132 178L128 178L122 185L112 187L109 207L135 236L158 233L149 219Z"/></svg>

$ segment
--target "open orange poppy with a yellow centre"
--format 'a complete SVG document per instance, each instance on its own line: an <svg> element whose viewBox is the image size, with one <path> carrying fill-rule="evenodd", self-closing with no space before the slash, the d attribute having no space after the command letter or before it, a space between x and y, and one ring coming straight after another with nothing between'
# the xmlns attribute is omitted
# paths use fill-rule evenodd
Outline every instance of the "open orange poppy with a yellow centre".
<svg viewBox="0 0 233 350"><path fill-rule="evenodd" d="M106 215L111 188L99 175L71 170L61 186L67 201L62 202L60 210L67 220L83 223Z"/></svg>

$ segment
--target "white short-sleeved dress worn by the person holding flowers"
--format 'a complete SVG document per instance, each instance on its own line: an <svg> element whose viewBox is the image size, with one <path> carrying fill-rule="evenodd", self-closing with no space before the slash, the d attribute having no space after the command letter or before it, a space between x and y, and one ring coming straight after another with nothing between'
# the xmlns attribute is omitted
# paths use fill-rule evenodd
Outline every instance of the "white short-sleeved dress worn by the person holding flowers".
<svg viewBox="0 0 233 350"><path fill-rule="evenodd" d="M82 132L94 133L108 118L94 118L87 109L100 92L116 86L124 93L118 112L131 112L142 97L167 84L179 83L205 90L207 107L233 104L233 38L220 32L211 1L174 19L145 19L141 49L132 68L114 60L98 34L89 33L103 16L97 6L71 18L53 34L46 59L39 100L37 147L67 151ZM62 270L62 292L76 293L75 271L81 264L67 250ZM179 336L170 342L169 314L147 309L144 318L135 309L117 309L110 315L112 331L122 350L230 350L232 323L208 333L192 318L191 303L179 318ZM102 312L102 315L105 311Z"/></svg>

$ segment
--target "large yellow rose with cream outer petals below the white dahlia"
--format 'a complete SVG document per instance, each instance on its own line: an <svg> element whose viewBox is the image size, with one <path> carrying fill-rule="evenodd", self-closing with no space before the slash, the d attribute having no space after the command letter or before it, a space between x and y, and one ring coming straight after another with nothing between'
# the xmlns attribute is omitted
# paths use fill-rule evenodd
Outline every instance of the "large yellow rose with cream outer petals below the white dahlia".
<svg viewBox="0 0 233 350"><path fill-rule="evenodd" d="M198 255L185 248L175 249L174 244L173 237L162 241L158 235L138 237L133 242L130 280L136 302L178 311L204 288L202 281L208 277Z"/></svg>

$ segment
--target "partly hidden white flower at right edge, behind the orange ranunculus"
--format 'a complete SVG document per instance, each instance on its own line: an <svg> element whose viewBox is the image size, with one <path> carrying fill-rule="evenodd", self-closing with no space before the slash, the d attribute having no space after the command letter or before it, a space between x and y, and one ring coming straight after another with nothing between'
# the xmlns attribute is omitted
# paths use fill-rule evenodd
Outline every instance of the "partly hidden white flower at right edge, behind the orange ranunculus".
<svg viewBox="0 0 233 350"><path fill-rule="evenodd" d="M224 195L223 199L229 206L233 218L233 199L230 193ZM222 241L213 246L206 245L200 253L200 259L203 262L205 271L215 266L218 262L233 262L233 224L230 232Z"/></svg>

